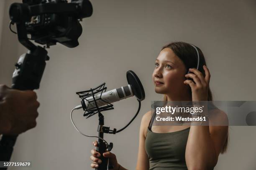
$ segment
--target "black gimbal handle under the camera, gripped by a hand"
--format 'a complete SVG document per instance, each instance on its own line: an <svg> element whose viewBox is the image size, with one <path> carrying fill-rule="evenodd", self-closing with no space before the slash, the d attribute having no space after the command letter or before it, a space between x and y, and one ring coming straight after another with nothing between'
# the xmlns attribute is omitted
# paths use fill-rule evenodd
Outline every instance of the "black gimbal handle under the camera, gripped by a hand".
<svg viewBox="0 0 256 170"><path fill-rule="evenodd" d="M13 72L13 89L34 90L38 89L46 66L47 51L38 46L20 56ZM13 153L18 135L3 135L0 141L0 161L9 161ZM3 168L6 170L7 168Z"/></svg>

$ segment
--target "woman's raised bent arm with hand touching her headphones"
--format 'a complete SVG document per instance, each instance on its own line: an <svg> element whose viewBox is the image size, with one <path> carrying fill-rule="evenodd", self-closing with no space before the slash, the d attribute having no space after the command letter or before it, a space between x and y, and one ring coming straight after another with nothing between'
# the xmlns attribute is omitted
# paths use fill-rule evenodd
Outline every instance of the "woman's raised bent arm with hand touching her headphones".
<svg viewBox="0 0 256 170"><path fill-rule="evenodd" d="M191 87L192 101L208 100L210 71L206 65L203 66L203 69L205 70L205 77L202 72L195 68L189 69L194 74L185 75L185 77L194 80L194 82L191 80L184 81ZM221 110L214 117L218 117L218 120L228 121L226 114ZM228 126L191 126L185 153L187 168L189 170L213 169L218 162L218 156L225 144L227 135Z"/></svg>

